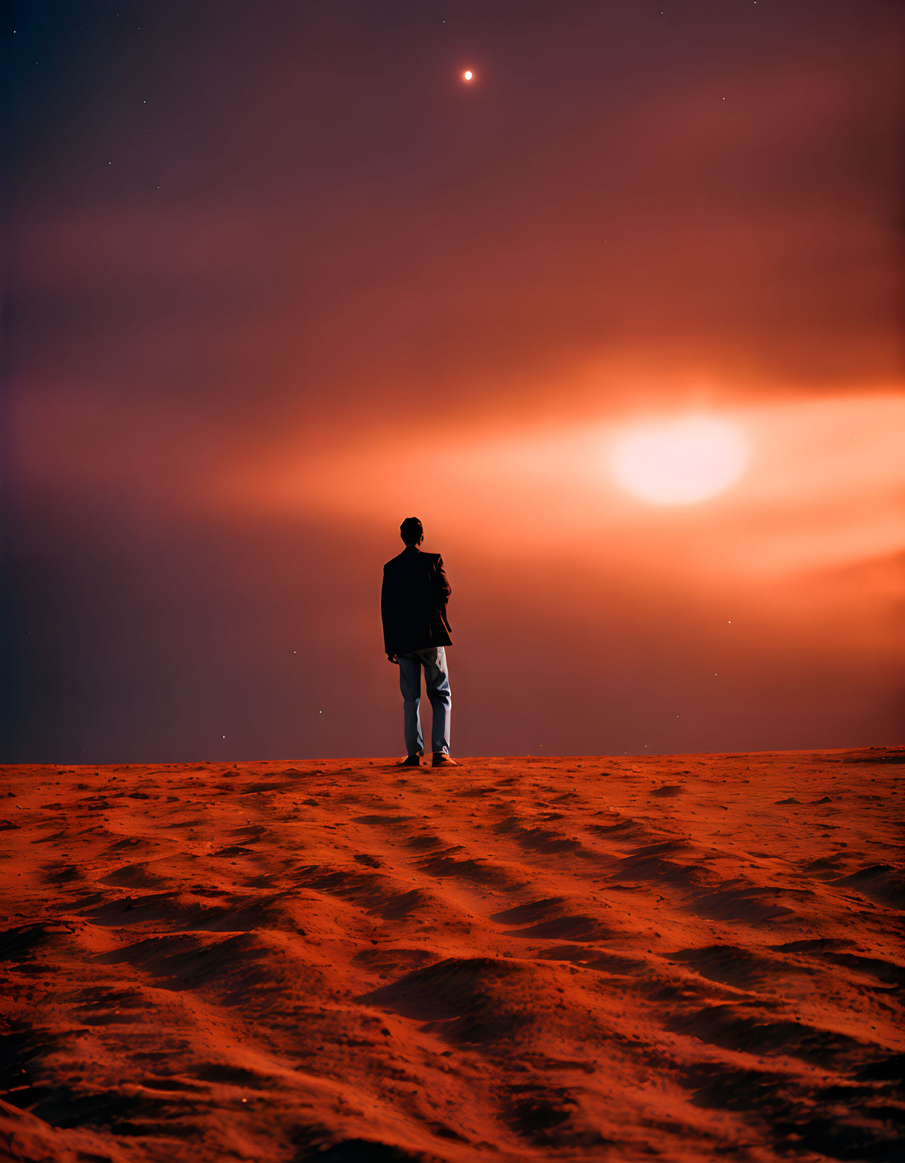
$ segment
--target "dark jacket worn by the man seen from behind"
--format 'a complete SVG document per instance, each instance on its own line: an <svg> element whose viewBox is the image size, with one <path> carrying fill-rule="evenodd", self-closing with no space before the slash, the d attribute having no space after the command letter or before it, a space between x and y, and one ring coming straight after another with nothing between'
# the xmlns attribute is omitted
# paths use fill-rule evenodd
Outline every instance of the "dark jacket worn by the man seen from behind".
<svg viewBox="0 0 905 1163"><path fill-rule="evenodd" d="M447 621L449 582L440 554L422 554L414 545L384 565L380 615L384 649L389 655L452 644Z"/></svg>

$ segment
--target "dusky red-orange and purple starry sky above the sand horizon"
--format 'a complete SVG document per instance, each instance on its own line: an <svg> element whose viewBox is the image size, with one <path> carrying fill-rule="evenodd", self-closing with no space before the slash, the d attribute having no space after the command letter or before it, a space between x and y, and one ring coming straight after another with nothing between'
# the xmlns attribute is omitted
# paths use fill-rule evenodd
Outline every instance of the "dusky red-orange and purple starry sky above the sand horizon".
<svg viewBox="0 0 905 1163"><path fill-rule="evenodd" d="M892 0L8 5L0 762L401 754L409 515L456 755L902 743L903 45Z"/></svg>

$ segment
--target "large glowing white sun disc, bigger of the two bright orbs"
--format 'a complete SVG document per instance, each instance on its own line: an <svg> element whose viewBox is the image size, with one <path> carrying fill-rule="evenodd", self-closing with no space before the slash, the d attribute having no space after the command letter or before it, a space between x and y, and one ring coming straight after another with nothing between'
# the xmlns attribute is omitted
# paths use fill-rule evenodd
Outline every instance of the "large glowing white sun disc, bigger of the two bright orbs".
<svg viewBox="0 0 905 1163"><path fill-rule="evenodd" d="M687 416L627 429L613 444L610 463L633 497L655 505L693 505L734 485L749 459L750 447L737 424Z"/></svg>

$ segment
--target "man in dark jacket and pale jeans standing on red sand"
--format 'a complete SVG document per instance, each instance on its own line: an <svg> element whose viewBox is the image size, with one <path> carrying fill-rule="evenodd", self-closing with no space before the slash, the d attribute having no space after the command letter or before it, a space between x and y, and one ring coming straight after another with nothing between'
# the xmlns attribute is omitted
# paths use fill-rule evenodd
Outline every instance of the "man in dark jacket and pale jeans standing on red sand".
<svg viewBox="0 0 905 1163"><path fill-rule="evenodd" d="M447 600L451 593L440 554L419 548L425 531L416 516L407 516L399 527L405 549L384 565L380 615L384 622L386 657L399 665L399 686L405 705L406 757L402 766L421 765L421 670L430 699L433 766L454 768L449 757L449 675L446 647L452 644L447 621Z"/></svg>

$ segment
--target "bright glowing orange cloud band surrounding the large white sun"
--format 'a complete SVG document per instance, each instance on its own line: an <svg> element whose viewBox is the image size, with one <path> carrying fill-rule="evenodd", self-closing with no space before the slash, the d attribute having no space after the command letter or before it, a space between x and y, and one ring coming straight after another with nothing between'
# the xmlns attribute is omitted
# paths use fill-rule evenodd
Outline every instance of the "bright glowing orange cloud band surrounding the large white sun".
<svg viewBox="0 0 905 1163"><path fill-rule="evenodd" d="M447 433L432 427L313 448L302 433L212 479L227 509L386 522L429 512L447 537L491 555L540 542L630 577L700 583L783 576L905 550L905 392L726 409L751 445L742 478L689 506L622 492L608 450L621 422ZM649 416L647 418L649 419ZM663 419L669 419L669 414Z"/></svg>

